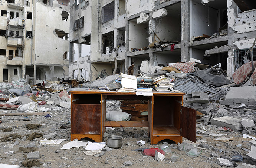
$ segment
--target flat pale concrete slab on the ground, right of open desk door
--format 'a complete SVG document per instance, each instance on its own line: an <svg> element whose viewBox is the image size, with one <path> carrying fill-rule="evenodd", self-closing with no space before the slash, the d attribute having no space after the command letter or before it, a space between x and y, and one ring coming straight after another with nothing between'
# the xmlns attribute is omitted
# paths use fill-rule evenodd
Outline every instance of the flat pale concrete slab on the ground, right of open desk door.
<svg viewBox="0 0 256 168"><path fill-rule="evenodd" d="M241 119L228 117L228 116L213 118L211 120L211 124L217 125L217 127L223 127L223 126L228 127L234 131L243 130L243 127L241 125Z"/></svg>

